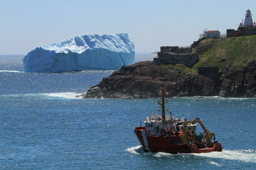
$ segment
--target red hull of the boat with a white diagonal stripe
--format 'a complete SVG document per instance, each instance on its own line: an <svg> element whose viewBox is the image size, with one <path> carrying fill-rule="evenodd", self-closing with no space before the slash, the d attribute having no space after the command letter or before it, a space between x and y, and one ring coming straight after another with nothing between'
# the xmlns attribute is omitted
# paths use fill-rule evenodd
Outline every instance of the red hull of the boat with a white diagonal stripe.
<svg viewBox="0 0 256 170"><path fill-rule="evenodd" d="M146 135L145 127L135 127L134 132L145 151L170 152L170 153L209 153L221 152L221 143L214 143L211 148L199 149L196 145L170 144L177 136L153 136Z"/></svg>

